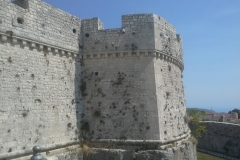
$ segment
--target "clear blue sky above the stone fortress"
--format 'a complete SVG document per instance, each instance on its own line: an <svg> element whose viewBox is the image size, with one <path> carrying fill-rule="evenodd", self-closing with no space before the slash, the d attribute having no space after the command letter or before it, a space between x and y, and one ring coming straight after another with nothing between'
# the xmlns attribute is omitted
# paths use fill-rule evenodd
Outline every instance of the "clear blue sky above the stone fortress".
<svg viewBox="0 0 240 160"><path fill-rule="evenodd" d="M188 108L240 109L240 0L44 0L81 19L120 28L121 16L155 13L182 36Z"/></svg>

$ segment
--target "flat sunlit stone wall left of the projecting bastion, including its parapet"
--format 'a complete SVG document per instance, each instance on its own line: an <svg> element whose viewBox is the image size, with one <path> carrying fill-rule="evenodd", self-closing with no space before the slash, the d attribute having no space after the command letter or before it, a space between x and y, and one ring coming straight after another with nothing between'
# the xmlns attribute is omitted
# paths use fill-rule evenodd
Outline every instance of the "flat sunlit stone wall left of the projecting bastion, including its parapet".
<svg viewBox="0 0 240 160"><path fill-rule="evenodd" d="M76 142L80 25L42 1L0 0L0 159Z"/></svg>

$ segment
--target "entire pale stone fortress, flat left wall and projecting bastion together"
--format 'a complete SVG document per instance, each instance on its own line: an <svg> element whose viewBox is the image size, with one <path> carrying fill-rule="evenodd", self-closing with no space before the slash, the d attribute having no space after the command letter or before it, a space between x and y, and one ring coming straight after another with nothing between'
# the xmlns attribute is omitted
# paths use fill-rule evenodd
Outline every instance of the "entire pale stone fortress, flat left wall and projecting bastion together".
<svg viewBox="0 0 240 160"><path fill-rule="evenodd" d="M66 157L79 137L127 154L196 158L182 40L162 17L124 15L121 28L104 29L41 0L0 0L0 40L0 159L34 145Z"/></svg>

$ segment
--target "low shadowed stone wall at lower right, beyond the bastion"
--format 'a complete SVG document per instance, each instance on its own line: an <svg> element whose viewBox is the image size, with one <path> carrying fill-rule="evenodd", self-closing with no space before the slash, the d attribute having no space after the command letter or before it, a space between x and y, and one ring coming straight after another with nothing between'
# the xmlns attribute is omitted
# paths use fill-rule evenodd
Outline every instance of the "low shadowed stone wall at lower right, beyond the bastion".
<svg viewBox="0 0 240 160"><path fill-rule="evenodd" d="M240 125L225 122L202 122L207 132L198 139L198 148L218 156L240 158ZM233 158L235 157L235 158ZM230 159L230 158L229 158Z"/></svg>

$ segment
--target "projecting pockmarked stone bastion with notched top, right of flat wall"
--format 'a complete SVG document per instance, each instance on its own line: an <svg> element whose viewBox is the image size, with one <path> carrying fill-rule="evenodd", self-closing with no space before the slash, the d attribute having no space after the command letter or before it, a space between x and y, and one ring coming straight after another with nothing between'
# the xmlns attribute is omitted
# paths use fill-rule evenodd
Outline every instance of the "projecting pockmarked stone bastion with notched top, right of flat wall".
<svg viewBox="0 0 240 160"><path fill-rule="evenodd" d="M117 29L82 20L80 48L86 140L135 150L188 143L182 40L171 24L154 14L124 15Z"/></svg>

